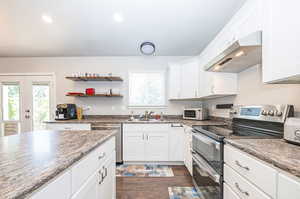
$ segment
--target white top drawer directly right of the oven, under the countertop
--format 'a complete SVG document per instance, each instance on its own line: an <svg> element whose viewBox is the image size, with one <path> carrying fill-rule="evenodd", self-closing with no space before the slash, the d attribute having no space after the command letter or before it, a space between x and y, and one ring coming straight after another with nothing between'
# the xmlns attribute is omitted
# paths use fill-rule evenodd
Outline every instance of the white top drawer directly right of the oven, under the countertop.
<svg viewBox="0 0 300 199"><path fill-rule="evenodd" d="M265 193L276 198L277 171L244 152L225 145L224 161Z"/></svg>

